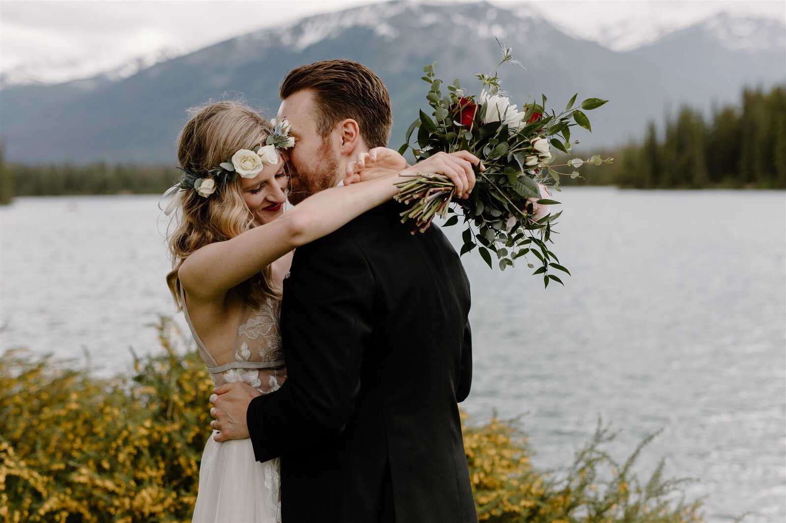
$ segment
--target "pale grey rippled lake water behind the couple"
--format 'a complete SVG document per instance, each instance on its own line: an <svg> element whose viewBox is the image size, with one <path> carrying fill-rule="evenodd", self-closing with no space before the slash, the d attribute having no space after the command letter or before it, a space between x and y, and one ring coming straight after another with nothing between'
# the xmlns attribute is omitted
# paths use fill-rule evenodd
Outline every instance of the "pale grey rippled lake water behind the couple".
<svg viewBox="0 0 786 523"><path fill-rule="evenodd" d="M637 470L696 477L708 521L786 521L786 193L568 188L543 289L520 264L472 281L465 409L522 415L536 466L567 466L600 415ZM174 313L156 196L19 198L0 210L2 349L131 370ZM445 229L460 245L461 229ZM537 260L536 260L537 262ZM562 276L562 275L560 275ZM180 322L182 323L182 320Z"/></svg>

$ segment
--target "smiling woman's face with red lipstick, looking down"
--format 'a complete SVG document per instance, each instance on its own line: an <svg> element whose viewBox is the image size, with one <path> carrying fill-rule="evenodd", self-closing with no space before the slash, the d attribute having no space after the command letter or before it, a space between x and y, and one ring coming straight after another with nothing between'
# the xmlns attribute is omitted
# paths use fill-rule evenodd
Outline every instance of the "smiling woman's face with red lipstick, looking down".
<svg viewBox="0 0 786 523"><path fill-rule="evenodd" d="M248 210L254 214L254 223L270 223L284 213L284 194L287 177L284 173L284 160L279 158L275 165L266 165L253 178L239 178L241 193Z"/></svg>

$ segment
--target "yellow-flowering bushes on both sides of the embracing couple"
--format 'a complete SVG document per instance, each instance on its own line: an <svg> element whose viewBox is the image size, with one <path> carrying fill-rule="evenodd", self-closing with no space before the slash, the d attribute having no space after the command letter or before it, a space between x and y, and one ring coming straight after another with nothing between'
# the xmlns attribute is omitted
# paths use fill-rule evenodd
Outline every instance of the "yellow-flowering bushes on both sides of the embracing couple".
<svg viewBox="0 0 786 523"><path fill-rule="evenodd" d="M24 349L0 357L0 523L190 520L213 385L171 320L156 328L163 352L111 379ZM699 503L670 499L681 480L663 480L662 466L644 486L630 477L646 441L601 481L615 465L599 429L557 480L532 468L511 422L464 434L482 521L699 520Z"/></svg>

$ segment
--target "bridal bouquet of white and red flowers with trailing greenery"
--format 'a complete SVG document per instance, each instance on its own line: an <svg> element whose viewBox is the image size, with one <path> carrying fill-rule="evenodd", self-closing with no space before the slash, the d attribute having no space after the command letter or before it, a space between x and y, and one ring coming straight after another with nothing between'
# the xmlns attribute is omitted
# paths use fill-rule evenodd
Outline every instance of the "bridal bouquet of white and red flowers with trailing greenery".
<svg viewBox="0 0 786 523"><path fill-rule="evenodd" d="M486 170L477 174L477 182L469 199L451 198L454 185L436 174L418 174L400 181L399 202L410 205L402 213L402 221L414 220L415 229L428 229L435 216L447 218L445 225L455 225L459 216L464 218L464 247L461 254L478 247L480 256L493 268L492 255L498 258L500 269L513 266L516 258L533 255L541 266L533 274L542 274L544 285L549 280L562 283L550 269L567 272L547 243L553 243L552 225L561 211L551 212L559 202L551 199L549 187L560 191L560 175L580 177L579 166L584 163L611 163L593 155L589 159L574 158L566 163L554 162L555 152L571 150L571 127L580 126L591 131L584 111L601 107L605 100L588 98L574 107L578 93L571 98L563 112L549 113L546 97L541 103L530 101L519 111L500 89L496 71L501 64L518 64L511 49L501 46L503 59L488 74L479 74L480 93L469 94L454 80L443 94L442 80L435 78L436 63L423 68L423 80L431 87L426 95L433 108L431 115L421 111L406 132L406 144L400 153L412 148L415 159L428 158L436 152L466 150L482 160ZM410 145L410 138L417 129L417 147ZM574 143L578 143L575 141ZM562 172L558 167L569 167ZM454 203L455 208L449 203ZM527 262L530 268L534 265ZM564 283L563 283L564 284Z"/></svg>

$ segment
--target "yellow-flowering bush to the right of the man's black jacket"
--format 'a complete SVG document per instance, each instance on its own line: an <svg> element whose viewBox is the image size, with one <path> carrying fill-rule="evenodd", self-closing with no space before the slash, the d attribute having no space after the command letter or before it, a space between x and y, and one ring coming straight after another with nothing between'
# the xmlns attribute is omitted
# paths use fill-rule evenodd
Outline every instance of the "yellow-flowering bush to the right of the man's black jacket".
<svg viewBox="0 0 786 523"><path fill-rule="evenodd" d="M480 521L516 523L663 523L701 521L699 501L680 495L687 478L663 476L660 461L642 483L631 471L645 437L623 463L604 450L618 435L598 420L591 441L575 452L571 466L539 472L531 466L531 450L514 422L492 418L465 427L464 441L472 491Z"/></svg>

